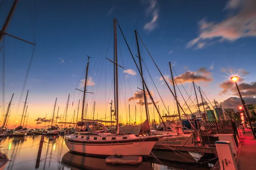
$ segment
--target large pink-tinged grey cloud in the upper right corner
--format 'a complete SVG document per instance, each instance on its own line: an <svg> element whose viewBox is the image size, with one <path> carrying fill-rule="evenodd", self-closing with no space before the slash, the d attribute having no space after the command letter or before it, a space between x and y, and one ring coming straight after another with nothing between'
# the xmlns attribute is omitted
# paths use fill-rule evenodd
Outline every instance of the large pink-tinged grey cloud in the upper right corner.
<svg viewBox="0 0 256 170"><path fill-rule="evenodd" d="M186 47L201 49L216 39L233 42L242 37L256 37L256 0L229 0L224 10L238 12L220 23L207 22L206 18L201 20L198 23L199 36L188 42Z"/></svg>

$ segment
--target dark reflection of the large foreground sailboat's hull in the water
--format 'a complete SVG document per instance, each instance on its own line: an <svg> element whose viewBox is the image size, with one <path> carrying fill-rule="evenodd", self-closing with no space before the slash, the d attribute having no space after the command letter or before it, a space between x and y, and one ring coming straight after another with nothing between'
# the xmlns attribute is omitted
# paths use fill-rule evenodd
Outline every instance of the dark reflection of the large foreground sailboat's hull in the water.
<svg viewBox="0 0 256 170"><path fill-rule="evenodd" d="M61 163L68 167L76 167L79 169L89 170L153 170L150 162L143 161L139 165L110 165L105 159L97 157L88 157L76 155L70 152L64 154ZM72 169L72 168L71 168Z"/></svg>

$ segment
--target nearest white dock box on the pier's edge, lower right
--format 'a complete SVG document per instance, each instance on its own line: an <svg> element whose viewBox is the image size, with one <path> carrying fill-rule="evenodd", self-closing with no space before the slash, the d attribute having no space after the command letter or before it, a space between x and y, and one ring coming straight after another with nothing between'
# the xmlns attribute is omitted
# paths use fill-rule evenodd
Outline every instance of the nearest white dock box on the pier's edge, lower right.
<svg viewBox="0 0 256 170"><path fill-rule="evenodd" d="M215 142L221 170L238 170L236 161L229 141Z"/></svg>

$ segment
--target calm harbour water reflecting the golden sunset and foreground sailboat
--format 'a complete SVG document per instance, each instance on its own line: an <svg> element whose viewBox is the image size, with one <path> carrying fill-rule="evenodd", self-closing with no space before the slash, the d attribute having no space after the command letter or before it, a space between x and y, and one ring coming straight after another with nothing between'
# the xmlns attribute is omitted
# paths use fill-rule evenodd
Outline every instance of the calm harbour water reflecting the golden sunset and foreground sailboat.
<svg viewBox="0 0 256 170"><path fill-rule="evenodd" d="M209 167L195 167L194 164L177 164L156 159L148 159L135 166L113 166L105 159L79 156L69 153L62 136L46 136L40 162L36 162L41 136L14 136L0 138L1 151L10 160L6 170L209 170ZM39 167L35 168L36 163Z"/></svg>

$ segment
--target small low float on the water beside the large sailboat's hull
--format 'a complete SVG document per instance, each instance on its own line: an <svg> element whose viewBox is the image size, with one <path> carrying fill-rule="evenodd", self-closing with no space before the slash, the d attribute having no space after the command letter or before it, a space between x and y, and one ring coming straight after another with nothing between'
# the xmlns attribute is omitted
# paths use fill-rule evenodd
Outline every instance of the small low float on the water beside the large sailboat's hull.
<svg viewBox="0 0 256 170"><path fill-rule="evenodd" d="M106 158L108 164L140 164L142 162L141 156L122 156L117 158L116 156L108 156Z"/></svg>

